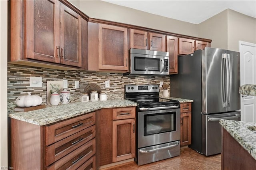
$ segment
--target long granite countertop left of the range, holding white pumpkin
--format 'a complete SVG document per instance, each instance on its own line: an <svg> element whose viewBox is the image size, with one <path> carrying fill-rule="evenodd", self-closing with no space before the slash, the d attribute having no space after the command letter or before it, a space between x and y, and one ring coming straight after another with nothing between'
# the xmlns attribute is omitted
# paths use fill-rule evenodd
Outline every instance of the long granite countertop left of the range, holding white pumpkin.
<svg viewBox="0 0 256 170"><path fill-rule="evenodd" d="M131 106L137 106L137 103L125 99L114 99L97 102L89 101L85 103L76 102L68 103L65 105L46 107L45 109L39 109L29 112L9 113L8 117L43 126L57 121L62 121L64 119L72 118L78 115L82 115L84 113L96 111L98 109Z"/></svg>

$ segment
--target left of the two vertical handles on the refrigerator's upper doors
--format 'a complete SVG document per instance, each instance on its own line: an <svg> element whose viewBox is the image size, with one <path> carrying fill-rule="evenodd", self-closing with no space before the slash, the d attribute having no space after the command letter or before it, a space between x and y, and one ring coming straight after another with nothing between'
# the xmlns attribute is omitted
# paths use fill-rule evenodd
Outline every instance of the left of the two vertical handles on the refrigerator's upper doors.
<svg viewBox="0 0 256 170"><path fill-rule="evenodd" d="M220 70L220 87L221 87L221 95L222 95L222 107L227 107L227 98L226 98L226 94L225 94L225 89L226 89L225 66L227 65L226 56L227 56L226 53L222 54L221 70Z"/></svg>

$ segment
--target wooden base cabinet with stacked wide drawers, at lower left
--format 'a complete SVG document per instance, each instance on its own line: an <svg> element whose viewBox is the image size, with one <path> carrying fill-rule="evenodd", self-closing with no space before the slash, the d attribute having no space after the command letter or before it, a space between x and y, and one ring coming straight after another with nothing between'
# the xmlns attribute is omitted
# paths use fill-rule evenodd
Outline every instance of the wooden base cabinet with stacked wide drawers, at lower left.
<svg viewBox="0 0 256 170"><path fill-rule="evenodd" d="M8 166L37 170L96 169L95 112L45 126L12 118L8 121Z"/></svg>

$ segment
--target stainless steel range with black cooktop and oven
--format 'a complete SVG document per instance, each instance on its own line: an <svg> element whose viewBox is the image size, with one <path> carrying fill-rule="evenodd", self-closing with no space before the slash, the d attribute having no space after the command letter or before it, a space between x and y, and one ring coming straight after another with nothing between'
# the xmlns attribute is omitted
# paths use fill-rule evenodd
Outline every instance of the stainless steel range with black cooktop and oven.
<svg viewBox="0 0 256 170"><path fill-rule="evenodd" d="M159 97L158 85L125 85L125 99L138 103L138 165L180 155L180 103Z"/></svg>

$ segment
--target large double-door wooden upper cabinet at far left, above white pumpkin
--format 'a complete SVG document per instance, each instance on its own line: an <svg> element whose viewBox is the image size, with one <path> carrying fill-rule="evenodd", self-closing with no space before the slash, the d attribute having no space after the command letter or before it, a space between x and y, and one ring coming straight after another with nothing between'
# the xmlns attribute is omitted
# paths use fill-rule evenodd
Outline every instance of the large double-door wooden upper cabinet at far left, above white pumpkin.
<svg viewBox="0 0 256 170"><path fill-rule="evenodd" d="M52 68L67 70L67 65L70 69L87 68L84 66L87 61L82 60L87 57L87 52L82 52L82 48L87 50L87 21L79 10L59 0L8 3L11 16L8 61L33 61L36 63L23 65L46 68L52 63L57 66Z"/></svg>

